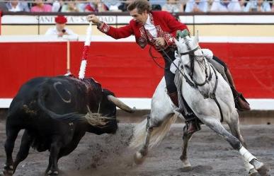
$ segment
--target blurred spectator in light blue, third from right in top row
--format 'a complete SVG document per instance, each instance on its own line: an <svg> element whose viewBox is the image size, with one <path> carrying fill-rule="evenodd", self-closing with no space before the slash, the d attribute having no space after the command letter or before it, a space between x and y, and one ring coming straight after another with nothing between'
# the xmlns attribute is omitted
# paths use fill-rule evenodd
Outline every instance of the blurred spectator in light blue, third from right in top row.
<svg viewBox="0 0 274 176"><path fill-rule="evenodd" d="M207 12L207 0L188 0L185 6L185 12Z"/></svg>

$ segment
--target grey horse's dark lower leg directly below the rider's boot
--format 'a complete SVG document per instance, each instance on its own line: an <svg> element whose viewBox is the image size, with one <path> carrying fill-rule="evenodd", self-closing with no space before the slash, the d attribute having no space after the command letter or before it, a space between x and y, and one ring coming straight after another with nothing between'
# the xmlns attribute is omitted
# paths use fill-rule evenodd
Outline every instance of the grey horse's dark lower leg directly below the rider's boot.
<svg viewBox="0 0 274 176"><path fill-rule="evenodd" d="M180 157L180 159L183 162L183 170L191 170L191 164L188 161L188 141L190 141L191 137L192 137L193 133L188 133L188 129L185 127L183 127L183 146L182 146L182 155Z"/></svg>

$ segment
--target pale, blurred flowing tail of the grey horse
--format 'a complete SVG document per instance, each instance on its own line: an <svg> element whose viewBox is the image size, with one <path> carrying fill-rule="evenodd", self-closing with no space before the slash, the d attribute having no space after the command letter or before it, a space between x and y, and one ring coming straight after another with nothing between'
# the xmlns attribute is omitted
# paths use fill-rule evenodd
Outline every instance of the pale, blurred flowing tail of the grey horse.
<svg viewBox="0 0 274 176"><path fill-rule="evenodd" d="M153 127L152 134L149 140L149 148L159 145L161 141L166 136L167 132L171 128L171 124L176 122L178 114L171 115L166 118L159 127ZM130 148L139 148L144 143L147 129L147 119L144 119L142 122L137 124L134 130L132 141L130 142Z"/></svg>

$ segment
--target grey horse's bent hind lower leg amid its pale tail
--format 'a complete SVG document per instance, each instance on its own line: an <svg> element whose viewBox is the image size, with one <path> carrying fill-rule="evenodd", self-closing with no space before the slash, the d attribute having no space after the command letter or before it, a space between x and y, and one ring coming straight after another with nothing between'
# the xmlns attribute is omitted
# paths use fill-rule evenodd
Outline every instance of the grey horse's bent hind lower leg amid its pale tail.
<svg viewBox="0 0 274 176"><path fill-rule="evenodd" d="M142 148L135 153L134 160L136 164L142 164L144 162L145 156L147 156L147 151L149 148L149 139L152 134L153 128L149 127L149 121L147 122L147 131L146 131L146 137L144 139L144 143L142 145Z"/></svg>

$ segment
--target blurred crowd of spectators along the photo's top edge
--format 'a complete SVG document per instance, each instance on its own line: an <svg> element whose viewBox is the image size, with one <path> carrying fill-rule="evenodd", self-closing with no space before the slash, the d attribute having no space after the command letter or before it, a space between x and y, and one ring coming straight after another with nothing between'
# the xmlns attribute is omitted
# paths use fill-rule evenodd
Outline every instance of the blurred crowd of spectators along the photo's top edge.
<svg viewBox="0 0 274 176"><path fill-rule="evenodd" d="M14 2L14 1L13 1ZM195 13L206 13L206 12L270 12L274 11L273 1L257 1L257 0L231 0L229 1L230 5L220 8L219 4L223 4L222 0L200 0L199 4L195 4L195 0L180 0L176 4L167 3L165 0L160 1L151 1L152 8L154 10L165 10L171 13L178 12L195 12ZM120 0L102 0L99 3L87 3L87 1L42 1L42 4L50 5L47 8L34 9L33 6L36 5L35 1L18 1L21 4L21 10L18 8L11 8L11 1L0 1L0 10L1 11L47 11L47 12L68 12L68 13L85 13L85 12L122 12L127 11L126 6L129 1L120 1ZM5 9L6 4L8 8ZM218 4L218 5L217 5ZM89 8L87 8L89 6Z"/></svg>

